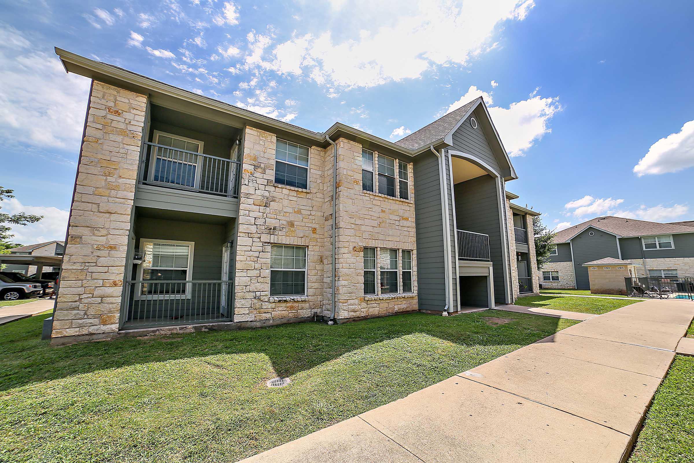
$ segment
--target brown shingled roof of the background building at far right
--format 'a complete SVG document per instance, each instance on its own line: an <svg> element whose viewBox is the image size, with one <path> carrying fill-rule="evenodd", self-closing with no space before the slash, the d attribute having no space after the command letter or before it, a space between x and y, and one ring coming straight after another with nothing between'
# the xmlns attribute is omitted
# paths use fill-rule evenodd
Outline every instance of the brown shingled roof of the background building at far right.
<svg viewBox="0 0 694 463"><path fill-rule="evenodd" d="M666 235L668 233L694 233L691 226L661 224L645 220L624 219L623 217L596 217L582 224L566 228L557 233L554 243L566 243L587 226L594 226L619 236Z"/></svg>

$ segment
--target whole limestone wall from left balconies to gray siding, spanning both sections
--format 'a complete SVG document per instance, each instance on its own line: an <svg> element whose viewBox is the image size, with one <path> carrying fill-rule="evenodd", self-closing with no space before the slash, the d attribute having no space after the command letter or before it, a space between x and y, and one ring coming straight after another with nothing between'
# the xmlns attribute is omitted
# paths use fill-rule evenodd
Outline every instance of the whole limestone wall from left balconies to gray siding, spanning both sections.
<svg viewBox="0 0 694 463"><path fill-rule="evenodd" d="M235 321L330 314L333 148L310 148L309 188L303 190L275 185L276 144L273 133L246 128L239 199ZM337 150L336 318L417 310L414 201L362 192L362 146L340 139ZM374 157L376 163L378 153ZM409 188L412 198L412 165L409 165ZM307 296L269 296L272 244L308 247ZM365 298L364 246L412 249L413 293Z"/></svg>

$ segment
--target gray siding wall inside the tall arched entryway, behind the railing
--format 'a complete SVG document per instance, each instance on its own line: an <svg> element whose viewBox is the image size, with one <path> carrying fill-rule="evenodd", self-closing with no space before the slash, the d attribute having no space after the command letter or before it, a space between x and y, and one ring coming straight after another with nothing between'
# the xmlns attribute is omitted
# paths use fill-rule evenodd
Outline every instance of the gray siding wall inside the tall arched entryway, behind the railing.
<svg viewBox="0 0 694 463"><path fill-rule="evenodd" d="M456 221L459 230L489 235L489 255L494 270L494 298L506 301L504 241L496 180L484 175L455 185ZM461 289L462 292L462 289Z"/></svg>

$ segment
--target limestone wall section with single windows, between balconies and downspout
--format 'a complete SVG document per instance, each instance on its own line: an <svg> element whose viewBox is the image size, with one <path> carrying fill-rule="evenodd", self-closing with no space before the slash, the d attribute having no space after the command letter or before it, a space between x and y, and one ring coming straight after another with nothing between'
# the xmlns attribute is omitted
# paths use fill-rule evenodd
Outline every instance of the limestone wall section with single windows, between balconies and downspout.
<svg viewBox="0 0 694 463"><path fill-rule="evenodd" d="M303 190L275 184L276 146L275 134L246 127L235 321L310 317L314 312L320 314L330 297L332 149L310 148L309 185ZM329 157L326 151L330 151ZM272 244L307 246L307 296L270 297Z"/></svg>

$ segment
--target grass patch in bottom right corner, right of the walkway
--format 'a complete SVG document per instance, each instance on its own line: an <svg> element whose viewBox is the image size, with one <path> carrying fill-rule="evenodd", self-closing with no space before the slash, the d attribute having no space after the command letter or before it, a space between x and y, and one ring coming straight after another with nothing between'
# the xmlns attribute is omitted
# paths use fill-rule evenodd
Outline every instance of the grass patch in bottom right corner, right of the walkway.
<svg viewBox="0 0 694 463"><path fill-rule="evenodd" d="M694 462L694 357L677 355L658 388L629 463Z"/></svg>

